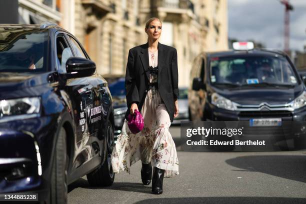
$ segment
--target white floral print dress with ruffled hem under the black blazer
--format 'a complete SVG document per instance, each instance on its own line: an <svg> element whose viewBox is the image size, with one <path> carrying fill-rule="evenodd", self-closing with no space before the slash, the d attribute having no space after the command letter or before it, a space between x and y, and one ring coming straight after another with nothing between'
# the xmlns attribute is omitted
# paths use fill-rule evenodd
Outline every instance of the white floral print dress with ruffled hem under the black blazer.
<svg viewBox="0 0 306 204"><path fill-rule="evenodd" d="M158 51L148 54L149 65L156 67ZM150 73L149 77L150 82L157 82L157 73ZM175 143L169 132L170 117L154 86L147 91L141 114L144 127L136 134L130 132L126 119L123 122L111 154L113 172L124 170L130 173L130 165L141 160L142 163L151 162L152 166L165 169L165 177L178 174Z"/></svg>

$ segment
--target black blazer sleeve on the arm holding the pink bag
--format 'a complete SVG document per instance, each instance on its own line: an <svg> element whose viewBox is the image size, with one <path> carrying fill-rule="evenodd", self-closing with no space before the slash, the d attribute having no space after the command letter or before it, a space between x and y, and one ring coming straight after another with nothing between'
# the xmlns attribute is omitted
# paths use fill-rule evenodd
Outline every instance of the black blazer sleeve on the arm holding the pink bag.
<svg viewBox="0 0 306 204"><path fill-rule="evenodd" d="M135 72L134 56L131 50L129 50L125 72L126 103L128 107L131 105L131 103L139 103L139 93L136 86Z"/></svg>

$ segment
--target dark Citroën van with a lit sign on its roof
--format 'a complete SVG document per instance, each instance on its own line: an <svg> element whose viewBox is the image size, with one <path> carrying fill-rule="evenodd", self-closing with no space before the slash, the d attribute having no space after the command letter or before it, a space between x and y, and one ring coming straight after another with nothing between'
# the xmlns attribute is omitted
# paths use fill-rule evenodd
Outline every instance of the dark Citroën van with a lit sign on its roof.
<svg viewBox="0 0 306 204"><path fill-rule="evenodd" d="M201 53L194 59L190 120L243 120L257 127L305 121L305 85L289 57L253 48L251 42L234 45L234 50Z"/></svg>

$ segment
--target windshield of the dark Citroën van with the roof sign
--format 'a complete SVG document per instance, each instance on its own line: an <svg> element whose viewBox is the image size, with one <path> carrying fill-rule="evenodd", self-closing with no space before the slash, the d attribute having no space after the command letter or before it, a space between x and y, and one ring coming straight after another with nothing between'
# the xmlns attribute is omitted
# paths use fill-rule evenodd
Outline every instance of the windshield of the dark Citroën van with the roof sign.
<svg viewBox="0 0 306 204"><path fill-rule="evenodd" d="M210 82L214 85L294 85L291 65L282 56L214 57L210 60Z"/></svg>

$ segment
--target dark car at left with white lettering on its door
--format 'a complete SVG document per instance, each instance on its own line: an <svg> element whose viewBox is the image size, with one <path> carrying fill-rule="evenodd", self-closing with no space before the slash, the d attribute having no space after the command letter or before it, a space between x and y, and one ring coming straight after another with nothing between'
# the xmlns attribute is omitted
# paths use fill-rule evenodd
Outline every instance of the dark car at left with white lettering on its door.
<svg viewBox="0 0 306 204"><path fill-rule="evenodd" d="M0 59L0 193L66 203L83 175L111 185L111 95L77 39L52 23L2 24Z"/></svg>

